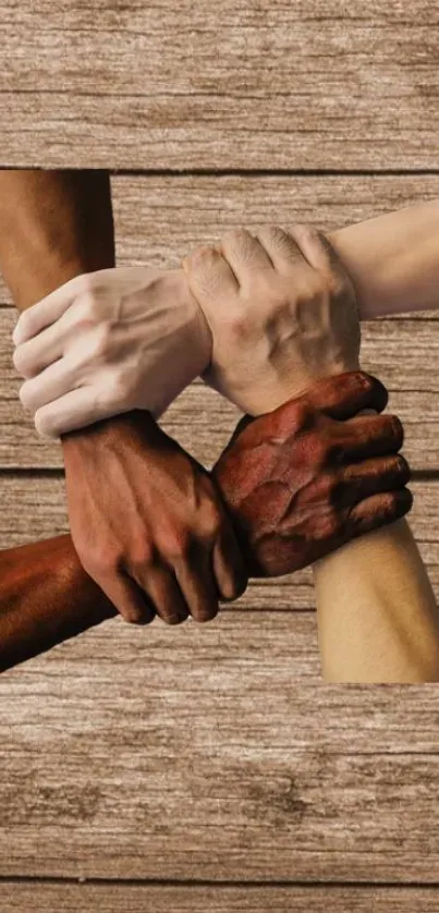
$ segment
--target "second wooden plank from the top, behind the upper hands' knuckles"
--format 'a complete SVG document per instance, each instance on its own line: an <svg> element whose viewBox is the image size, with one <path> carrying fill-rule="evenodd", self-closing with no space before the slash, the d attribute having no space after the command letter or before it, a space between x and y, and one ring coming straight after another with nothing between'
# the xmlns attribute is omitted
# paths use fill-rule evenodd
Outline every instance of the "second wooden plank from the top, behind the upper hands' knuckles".
<svg viewBox="0 0 439 913"><path fill-rule="evenodd" d="M162 268L229 229L302 221L334 231L439 194L437 176L413 174L113 175L111 185L119 264ZM1 279L0 302L10 302Z"/></svg>

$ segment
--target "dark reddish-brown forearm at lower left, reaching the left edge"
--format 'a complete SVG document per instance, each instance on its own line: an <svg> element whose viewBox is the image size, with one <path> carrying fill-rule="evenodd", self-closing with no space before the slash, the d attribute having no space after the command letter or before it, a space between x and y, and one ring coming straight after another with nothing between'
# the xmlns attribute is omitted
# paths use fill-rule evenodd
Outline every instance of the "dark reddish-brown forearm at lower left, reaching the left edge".
<svg viewBox="0 0 439 913"><path fill-rule="evenodd" d="M0 552L0 671L115 613L70 536Z"/></svg>

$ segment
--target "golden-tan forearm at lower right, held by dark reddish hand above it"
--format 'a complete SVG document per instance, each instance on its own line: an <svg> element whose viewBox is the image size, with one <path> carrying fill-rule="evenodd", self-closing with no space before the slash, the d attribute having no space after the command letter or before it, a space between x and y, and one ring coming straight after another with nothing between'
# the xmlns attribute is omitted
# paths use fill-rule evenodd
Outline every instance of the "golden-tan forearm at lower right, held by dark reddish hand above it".
<svg viewBox="0 0 439 913"><path fill-rule="evenodd" d="M405 521L322 559L314 577L327 681L439 681L438 611Z"/></svg>

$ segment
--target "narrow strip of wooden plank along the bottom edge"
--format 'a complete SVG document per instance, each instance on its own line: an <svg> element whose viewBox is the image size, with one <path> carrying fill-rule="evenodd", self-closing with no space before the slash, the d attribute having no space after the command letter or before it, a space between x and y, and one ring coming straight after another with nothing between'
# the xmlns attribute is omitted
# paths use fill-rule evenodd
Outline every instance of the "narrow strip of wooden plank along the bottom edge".
<svg viewBox="0 0 439 913"><path fill-rule="evenodd" d="M1 884L11 913L437 913L436 888ZM1 909L1 908L0 908Z"/></svg>

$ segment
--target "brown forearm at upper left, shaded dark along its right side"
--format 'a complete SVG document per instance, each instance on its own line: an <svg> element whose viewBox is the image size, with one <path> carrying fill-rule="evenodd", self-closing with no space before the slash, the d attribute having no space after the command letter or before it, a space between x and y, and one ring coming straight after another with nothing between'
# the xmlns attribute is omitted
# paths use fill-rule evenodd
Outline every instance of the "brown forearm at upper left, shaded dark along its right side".
<svg viewBox="0 0 439 913"><path fill-rule="evenodd" d="M107 171L0 170L0 269L20 311L112 266Z"/></svg>

